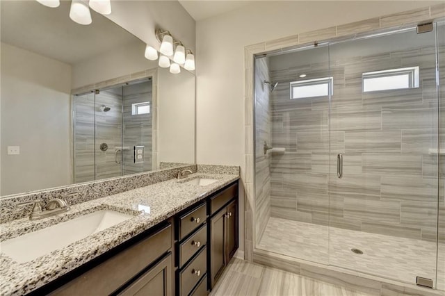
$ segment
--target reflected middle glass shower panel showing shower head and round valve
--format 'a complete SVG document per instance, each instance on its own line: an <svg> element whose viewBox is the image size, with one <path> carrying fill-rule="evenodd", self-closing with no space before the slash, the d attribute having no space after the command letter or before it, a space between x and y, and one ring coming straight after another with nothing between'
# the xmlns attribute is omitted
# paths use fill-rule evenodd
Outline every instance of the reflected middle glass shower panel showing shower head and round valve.
<svg viewBox="0 0 445 296"><path fill-rule="evenodd" d="M95 94L95 179L122 175L122 86Z"/></svg>

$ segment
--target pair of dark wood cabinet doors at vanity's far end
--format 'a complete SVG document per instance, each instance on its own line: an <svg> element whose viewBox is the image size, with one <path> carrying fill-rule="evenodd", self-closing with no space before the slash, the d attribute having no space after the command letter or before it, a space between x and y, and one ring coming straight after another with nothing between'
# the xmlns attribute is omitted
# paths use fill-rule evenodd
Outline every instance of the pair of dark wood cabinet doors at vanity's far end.
<svg viewBox="0 0 445 296"><path fill-rule="evenodd" d="M235 198L235 197L234 197ZM238 201L232 200L210 218L210 288L238 249Z"/></svg>

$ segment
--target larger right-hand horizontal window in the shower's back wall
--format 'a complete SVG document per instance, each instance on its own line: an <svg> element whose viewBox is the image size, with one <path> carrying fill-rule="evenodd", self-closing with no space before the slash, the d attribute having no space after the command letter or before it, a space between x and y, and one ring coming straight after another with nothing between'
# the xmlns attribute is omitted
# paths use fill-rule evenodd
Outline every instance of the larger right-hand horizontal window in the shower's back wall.
<svg viewBox="0 0 445 296"><path fill-rule="evenodd" d="M419 88L419 67L388 69L362 74L363 92Z"/></svg>

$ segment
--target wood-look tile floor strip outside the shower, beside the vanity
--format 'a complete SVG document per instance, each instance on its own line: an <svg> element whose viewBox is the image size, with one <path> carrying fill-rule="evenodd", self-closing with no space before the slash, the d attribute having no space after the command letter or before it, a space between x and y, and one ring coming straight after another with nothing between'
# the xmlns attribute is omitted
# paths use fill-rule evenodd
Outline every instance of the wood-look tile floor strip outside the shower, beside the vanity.
<svg viewBox="0 0 445 296"><path fill-rule="evenodd" d="M233 258L210 295L371 296L372 294Z"/></svg>

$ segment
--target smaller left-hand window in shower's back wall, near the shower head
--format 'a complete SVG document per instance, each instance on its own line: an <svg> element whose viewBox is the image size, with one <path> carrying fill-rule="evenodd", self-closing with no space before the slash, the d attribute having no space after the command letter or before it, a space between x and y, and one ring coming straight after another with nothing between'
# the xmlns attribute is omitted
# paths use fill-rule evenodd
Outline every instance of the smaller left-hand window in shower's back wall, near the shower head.
<svg viewBox="0 0 445 296"><path fill-rule="evenodd" d="M291 99L325 97L332 94L332 77L291 82Z"/></svg>

